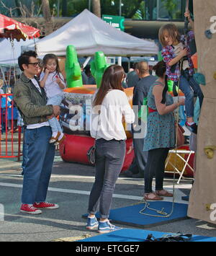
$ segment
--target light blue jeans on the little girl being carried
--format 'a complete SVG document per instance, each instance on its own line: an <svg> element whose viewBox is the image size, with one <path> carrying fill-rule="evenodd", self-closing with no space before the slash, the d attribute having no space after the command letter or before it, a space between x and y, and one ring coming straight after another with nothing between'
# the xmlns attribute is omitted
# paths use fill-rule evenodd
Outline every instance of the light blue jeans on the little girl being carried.
<svg viewBox="0 0 216 256"><path fill-rule="evenodd" d="M53 97L50 97L50 98L48 98L47 105L60 106L60 103L63 101L63 98L64 98L64 94L58 94ZM63 132L62 128L60 128L60 124L59 124L57 118L50 118L50 119L48 119L48 122L50 124L50 127L51 127L53 133L58 133L58 131L60 131L60 133Z"/></svg>

